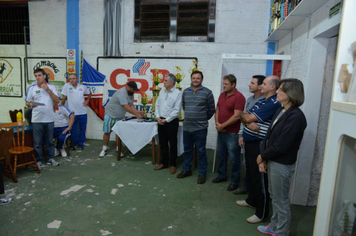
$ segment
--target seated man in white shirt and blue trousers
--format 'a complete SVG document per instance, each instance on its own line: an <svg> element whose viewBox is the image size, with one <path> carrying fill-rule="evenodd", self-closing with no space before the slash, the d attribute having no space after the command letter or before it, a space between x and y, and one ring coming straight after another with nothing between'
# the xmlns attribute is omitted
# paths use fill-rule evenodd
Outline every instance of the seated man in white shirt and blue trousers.
<svg viewBox="0 0 356 236"><path fill-rule="evenodd" d="M71 135L70 130L74 123L74 113L64 105L54 105L54 134L53 138L58 137L58 148L62 157L67 156L64 150L64 143Z"/></svg>

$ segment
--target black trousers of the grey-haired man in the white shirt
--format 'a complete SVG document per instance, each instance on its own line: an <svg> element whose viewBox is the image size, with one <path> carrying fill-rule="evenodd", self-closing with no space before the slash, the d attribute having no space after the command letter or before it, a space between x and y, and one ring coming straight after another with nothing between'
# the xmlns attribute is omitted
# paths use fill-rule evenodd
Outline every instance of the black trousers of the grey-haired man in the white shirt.
<svg viewBox="0 0 356 236"><path fill-rule="evenodd" d="M164 166L168 166L168 164L170 166L177 166L178 127L178 118L169 123L165 123L164 125L158 125L158 138L161 146L161 164ZM171 154L171 158L169 158L169 153Z"/></svg>

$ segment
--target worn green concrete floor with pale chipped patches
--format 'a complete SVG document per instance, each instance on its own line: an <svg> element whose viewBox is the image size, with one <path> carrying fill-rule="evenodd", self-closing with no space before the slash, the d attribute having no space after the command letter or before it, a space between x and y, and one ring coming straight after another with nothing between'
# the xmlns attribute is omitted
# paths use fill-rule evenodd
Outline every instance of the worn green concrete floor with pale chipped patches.
<svg viewBox="0 0 356 236"><path fill-rule="evenodd" d="M185 179L153 171L150 146L117 161L115 144L102 159L101 145L88 140L41 174L20 168L18 183L5 177L13 202L0 207L0 235L263 235L246 222L254 210L235 203L246 195L226 191L228 182L211 183L216 173L198 185L197 170ZM208 157L211 170L212 151ZM312 235L314 217L315 207L292 206L291 235Z"/></svg>

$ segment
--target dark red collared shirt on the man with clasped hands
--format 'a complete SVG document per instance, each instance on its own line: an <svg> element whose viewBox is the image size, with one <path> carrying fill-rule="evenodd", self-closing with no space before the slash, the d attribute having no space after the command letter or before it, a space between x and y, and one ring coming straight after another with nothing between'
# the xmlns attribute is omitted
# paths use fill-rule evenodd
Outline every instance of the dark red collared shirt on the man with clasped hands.
<svg viewBox="0 0 356 236"><path fill-rule="evenodd" d="M226 97L226 92L220 94L217 107L219 108L218 121L223 124L228 119L230 119L235 110L243 111L245 107L245 97L237 89L228 97ZM238 133L240 131L241 120L231 124L226 127L225 130L230 133Z"/></svg>

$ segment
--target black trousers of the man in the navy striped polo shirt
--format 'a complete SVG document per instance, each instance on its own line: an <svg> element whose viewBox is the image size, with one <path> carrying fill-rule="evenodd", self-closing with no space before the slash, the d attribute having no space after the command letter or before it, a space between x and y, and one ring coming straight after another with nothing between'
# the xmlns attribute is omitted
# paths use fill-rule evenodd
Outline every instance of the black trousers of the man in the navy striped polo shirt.
<svg viewBox="0 0 356 236"><path fill-rule="evenodd" d="M269 214L269 192L267 174L258 170L256 162L260 154L261 141L245 142L246 182L249 190L246 202L256 208L255 215L265 219Z"/></svg>

